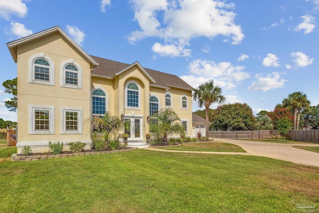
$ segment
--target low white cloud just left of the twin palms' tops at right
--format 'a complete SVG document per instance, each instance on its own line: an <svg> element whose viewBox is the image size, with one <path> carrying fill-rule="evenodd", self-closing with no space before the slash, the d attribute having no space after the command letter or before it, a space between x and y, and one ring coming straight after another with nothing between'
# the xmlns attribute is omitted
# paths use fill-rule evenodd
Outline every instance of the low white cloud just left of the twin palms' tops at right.
<svg viewBox="0 0 319 213"><path fill-rule="evenodd" d="M247 89L268 91L271 89L283 88L287 80L281 79L278 72L272 72L266 77L262 74L256 74L257 81L254 81Z"/></svg>

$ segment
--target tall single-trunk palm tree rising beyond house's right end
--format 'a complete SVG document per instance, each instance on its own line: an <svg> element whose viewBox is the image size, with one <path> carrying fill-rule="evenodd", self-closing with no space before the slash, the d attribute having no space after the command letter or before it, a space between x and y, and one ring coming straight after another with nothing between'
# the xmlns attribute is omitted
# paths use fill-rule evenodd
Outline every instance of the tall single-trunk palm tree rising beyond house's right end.
<svg viewBox="0 0 319 213"><path fill-rule="evenodd" d="M209 80L201 83L195 89L193 94L194 101L197 101L198 107L205 106L206 112L206 136L208 137L208 109L212 103L222 104L225 103L225 96L221 95L221 88L214 85L214 80Z"/></svg>

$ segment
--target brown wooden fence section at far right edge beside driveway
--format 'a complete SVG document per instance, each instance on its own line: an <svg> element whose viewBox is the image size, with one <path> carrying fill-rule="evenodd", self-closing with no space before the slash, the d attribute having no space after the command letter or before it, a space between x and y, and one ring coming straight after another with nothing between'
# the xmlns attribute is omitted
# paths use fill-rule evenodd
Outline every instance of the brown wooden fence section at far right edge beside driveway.
<svg viewBox="0 0 319 213"><path fill-rule="evenodd" d="M287 137L293 141L319 143L319 130L289 130Z"/></svg>

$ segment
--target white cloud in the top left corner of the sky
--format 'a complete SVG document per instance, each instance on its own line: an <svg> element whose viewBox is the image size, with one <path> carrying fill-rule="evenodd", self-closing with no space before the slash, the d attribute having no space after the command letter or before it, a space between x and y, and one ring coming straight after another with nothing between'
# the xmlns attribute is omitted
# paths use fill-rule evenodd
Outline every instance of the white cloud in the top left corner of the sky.
<svg viewBox="0 0 319 213"><path fill-rule="evenodd" d="M9 20L11 15L23 18L27 11L28 8L21 0L0 0L0 16L6 20Z"/></svg>

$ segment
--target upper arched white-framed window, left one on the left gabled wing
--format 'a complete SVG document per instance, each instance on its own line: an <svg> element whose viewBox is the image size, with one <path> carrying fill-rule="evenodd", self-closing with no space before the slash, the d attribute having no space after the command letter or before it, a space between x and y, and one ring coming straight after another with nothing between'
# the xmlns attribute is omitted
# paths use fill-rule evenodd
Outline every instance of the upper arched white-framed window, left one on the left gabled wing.
<svg viewBox="0 0 319 213"><path fill-rule="evenodd" d="M29 58L29 83L54 86L54 64L44 53Z"/></svg>

